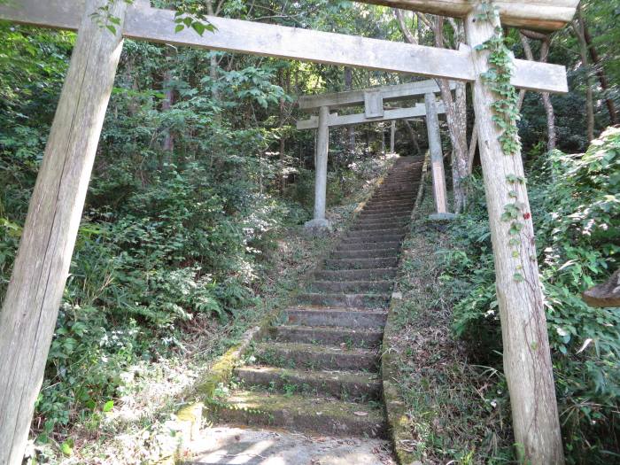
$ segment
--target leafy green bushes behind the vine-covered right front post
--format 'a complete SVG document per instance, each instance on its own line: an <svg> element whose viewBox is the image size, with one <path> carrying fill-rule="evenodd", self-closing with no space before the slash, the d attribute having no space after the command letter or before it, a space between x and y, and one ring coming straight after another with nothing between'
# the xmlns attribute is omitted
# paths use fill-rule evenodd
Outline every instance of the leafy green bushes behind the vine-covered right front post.
<svg viewBox="0 0 620 465"><path fill-rule="evenodd" d="M535 160L530 180L554 375L570 463L605 463L617 450L620 313L592 308L581 292L618 266L620 129L583 155ZM474 182L476 185L476 182ZM451 229L442 280L453 289L453 329L484 363L500 364L500 324L484 198ZM605 452L608 451L608 452Z"/></svg>

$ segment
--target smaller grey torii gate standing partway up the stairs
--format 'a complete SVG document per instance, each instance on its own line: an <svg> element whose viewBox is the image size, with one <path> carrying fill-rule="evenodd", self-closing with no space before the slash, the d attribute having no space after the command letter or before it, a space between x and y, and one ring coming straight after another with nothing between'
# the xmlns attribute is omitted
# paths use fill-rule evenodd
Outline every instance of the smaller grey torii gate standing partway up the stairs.
<svg viewBox="0 0 620 465"><path fill-rule="evenodd" d="M451 88L454 87L454 83L451 83ZM436 104L435 93L438 92L439 87L437 83L430 80L299 97L300 109L308 112L317 109L319 111L318 118L312 117L309 120L299 120L297 122L298 129L318 129L314 147L314 218L312 221L306 222L306 228L329 228L330 226L329 221L325 218L329 128L381 121L393 122L417 116L427 116L426 127L429 134L432 159L433 191L437 208L436 216L443 217L447 215L446 175L444 172L438 120L438 113L445 112L445 109L443 103L441 105ZM384 109L385 101L411 99L419 96L425 97L425 105L418 104L409 108L395 110ZM330 110L333 108L354 105L364 105L364 112L348 115L330 113Z"/></svg>

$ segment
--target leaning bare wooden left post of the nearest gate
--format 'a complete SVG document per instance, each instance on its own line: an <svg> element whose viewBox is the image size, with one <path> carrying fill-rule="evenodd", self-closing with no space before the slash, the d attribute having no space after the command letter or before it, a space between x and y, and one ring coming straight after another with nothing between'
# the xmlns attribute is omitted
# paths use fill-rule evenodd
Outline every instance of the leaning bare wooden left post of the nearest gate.
<svg viewBox="0 0 620 465"><path fill-rule="evenodd" d="M117 2L112 14L125 9ZM84 16L0 312L3 465L24 456L121 48L120 34Z"/></svg>

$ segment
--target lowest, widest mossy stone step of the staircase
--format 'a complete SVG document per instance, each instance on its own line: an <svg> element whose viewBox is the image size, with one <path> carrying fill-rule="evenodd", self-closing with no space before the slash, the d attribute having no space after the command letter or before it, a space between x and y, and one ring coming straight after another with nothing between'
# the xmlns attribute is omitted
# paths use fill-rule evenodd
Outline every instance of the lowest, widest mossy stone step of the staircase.
<svg viewBox="0 0 620 465"><path fill-rule="evenodd" d="M214 422L284 428L321 436L384 438L386 432L381 409L337 399L236 391L206 410L207 418Z"/></svg>

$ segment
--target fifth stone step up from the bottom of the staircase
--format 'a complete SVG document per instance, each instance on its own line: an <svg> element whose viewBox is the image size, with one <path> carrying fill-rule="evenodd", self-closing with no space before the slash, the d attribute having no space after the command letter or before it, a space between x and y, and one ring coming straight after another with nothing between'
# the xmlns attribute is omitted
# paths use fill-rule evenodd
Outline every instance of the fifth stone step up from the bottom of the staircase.
<svg viewBox="0 0 620 465"><path fill-rule="evenodd" d="M384 310L347 310L343 308L288 308L286 322L299 326L337 326L355 329L383 329L387 312Z"/></svg>

